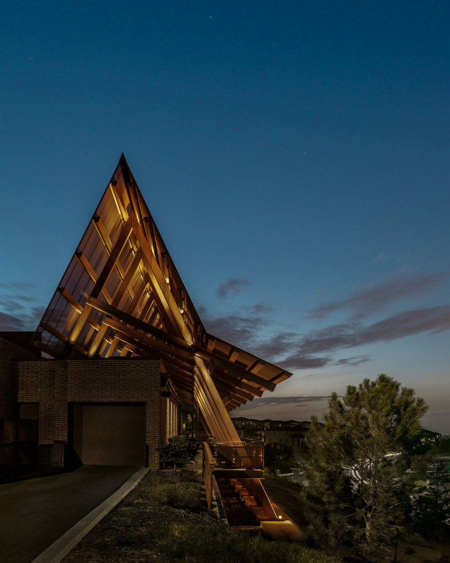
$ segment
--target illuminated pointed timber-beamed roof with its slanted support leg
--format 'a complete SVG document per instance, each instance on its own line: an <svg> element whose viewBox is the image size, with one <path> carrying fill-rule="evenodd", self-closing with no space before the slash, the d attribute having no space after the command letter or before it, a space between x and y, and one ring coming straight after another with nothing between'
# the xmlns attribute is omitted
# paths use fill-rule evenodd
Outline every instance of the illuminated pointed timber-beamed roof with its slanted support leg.
<svg viewBox="0 0 450 563"><path fill-rule="evenodd" d="M160 359L223 441L239 440L228 411L291 376L206 332L124 155L34 344L53 358Z"/></svg>

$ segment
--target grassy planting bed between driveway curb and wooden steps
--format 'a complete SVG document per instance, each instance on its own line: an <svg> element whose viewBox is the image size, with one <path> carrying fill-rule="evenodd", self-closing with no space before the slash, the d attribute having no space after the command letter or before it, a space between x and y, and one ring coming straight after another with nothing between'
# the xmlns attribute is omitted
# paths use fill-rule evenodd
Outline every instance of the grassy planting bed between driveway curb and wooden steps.
<svg viewBox="0 0 450 563"><path fill-rule="evenodd" d="M161 474L163 473L163 474ZM64 559L65 563L335 563L319 552L209 516L195 472L149 473Z"/></svg>

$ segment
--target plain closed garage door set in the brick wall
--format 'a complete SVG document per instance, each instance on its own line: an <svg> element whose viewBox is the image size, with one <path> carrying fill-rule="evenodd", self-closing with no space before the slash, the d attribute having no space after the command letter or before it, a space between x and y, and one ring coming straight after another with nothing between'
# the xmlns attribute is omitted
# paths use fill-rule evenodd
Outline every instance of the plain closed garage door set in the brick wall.
<svg viewBox="0 0 450 563"><path fill-rule="evenodd" d="M74 405L73 446L84 465L145 465L145 405Z"/></svg>

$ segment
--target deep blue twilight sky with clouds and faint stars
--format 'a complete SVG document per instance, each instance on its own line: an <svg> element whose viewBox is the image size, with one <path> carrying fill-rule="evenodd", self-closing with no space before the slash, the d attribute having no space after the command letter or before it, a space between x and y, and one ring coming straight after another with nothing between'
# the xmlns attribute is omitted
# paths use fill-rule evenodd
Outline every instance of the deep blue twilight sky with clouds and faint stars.
<svg viewBox="0 0 450 563"><path fill-rule="evenodd" d="M8 2L0 330L34 330L124 152L206 329L319 417L388 373L450 432L450 3Z"/></svg>

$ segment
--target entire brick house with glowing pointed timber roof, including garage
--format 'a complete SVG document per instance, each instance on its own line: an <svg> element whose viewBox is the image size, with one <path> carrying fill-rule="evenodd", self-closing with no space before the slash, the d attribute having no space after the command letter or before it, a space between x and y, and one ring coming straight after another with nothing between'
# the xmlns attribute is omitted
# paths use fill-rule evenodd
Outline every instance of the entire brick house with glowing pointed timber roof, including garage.
<svg viewBox="0 0 450 563"><path fill-rule="evenodd" d="M240 443L228 413L290 375L206 332L122 155L37 330L0 333L0 463L158 467L181 431Z"/></svg>

